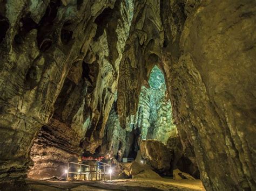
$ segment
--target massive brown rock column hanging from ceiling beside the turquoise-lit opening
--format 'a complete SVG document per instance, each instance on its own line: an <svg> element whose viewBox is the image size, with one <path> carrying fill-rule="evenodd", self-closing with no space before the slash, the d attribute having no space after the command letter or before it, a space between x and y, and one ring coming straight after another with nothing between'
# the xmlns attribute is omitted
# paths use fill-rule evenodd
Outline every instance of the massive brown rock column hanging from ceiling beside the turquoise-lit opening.
<svg viewBox="0 0 256 191"><path fill-rule="evenodd" d="M160 1L134 2L134 16L130 35L126 41L118 79L118 115L125 128L126 119L136 115L139 94L151 69L159 63L159 47L162 43ZM150 67L146 67L150 66Z"/></svg>

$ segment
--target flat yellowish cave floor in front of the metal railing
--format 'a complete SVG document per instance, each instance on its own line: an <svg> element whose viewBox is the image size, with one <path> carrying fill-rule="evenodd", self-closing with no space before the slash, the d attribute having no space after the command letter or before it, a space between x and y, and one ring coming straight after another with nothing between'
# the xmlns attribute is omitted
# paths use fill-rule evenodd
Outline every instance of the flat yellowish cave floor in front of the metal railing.
<svg viewBox="0 0 256 191"><path fill-rule="evenodd" d="M29 190L205 190L200 180L122 179L98 182L26 180Z"/></svg>

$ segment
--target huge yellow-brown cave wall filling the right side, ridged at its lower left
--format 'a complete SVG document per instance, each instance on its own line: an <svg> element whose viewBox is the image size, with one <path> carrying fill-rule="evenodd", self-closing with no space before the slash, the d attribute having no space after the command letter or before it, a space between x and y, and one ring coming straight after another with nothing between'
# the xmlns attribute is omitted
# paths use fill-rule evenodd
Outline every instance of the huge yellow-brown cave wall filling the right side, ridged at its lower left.
<svg viewBox="0 0 256 191"><path fill-rule="evenodd" d="M200 4L168 74L178 127L209 190L255 189L254 13L255 1Z"/></svg>

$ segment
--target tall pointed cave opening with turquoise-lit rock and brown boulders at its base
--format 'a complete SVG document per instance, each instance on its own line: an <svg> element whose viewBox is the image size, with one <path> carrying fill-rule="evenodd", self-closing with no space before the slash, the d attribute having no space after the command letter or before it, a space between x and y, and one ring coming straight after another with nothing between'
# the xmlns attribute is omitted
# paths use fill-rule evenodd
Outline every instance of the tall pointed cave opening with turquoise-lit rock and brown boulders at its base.
<svg viewBox="0 0 256 191"><path fill-rule="evenodd" d="M200 178L196 162L183 151L172 116L164 73L158 66L151 69L149 79L143 82L137 113L127 120L126 131L129 142L126 142L124 158L133 158L149 165L161 176L173 177L174 172L178 171ZM117 153L117 158L119 155Z"/></svg>

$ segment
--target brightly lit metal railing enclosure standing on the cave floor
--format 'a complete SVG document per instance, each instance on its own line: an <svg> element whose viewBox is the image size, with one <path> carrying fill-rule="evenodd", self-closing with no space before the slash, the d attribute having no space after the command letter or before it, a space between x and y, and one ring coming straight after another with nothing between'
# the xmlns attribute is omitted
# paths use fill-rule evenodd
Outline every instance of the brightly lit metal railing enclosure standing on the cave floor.
<svg viewBox="0 0 256 191"><path fill-rule="evenodd" d="M83 163L90 164L83 164ZM71 165L75 165L76 167L71 167ZM78 169L77 169L78 166ZM72 171L76 169L76 171ZM83 161L70 161L68 162L68 169L66 172L66 181L69 181L69 175L75 174L77 175L77 180L85 181L85 180L93 180L94 175L96 176L96 181L102 179L102 175L104 176L104 180L106 180L106 175L110 175L110 180L112 180L112 169L111 165L106 164L105 162L98 160L83 160Z"/></svg>

